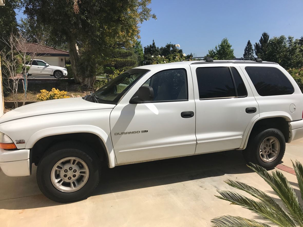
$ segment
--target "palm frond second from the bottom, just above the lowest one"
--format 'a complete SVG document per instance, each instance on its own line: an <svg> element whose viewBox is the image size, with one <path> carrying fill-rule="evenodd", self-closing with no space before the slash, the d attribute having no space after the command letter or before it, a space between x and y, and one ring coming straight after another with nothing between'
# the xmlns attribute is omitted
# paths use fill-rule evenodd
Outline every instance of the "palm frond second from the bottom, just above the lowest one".
<svg viewBox="0 0 303 227"><path fill-rule="evenodd" d="M294 227L293 222L289 222L281 214L279 214L275 209L272 209L271 206L268 206L264 202L257 202L253 199L250 199L246 196L243 196L237 192L230 191L220 191L218 190L221 196L216 196L219 199L223 199L242 206L246 209L251 210L252 212L257 213L261 217L270 220L271 222L281 226L281 227Z"/></svg>

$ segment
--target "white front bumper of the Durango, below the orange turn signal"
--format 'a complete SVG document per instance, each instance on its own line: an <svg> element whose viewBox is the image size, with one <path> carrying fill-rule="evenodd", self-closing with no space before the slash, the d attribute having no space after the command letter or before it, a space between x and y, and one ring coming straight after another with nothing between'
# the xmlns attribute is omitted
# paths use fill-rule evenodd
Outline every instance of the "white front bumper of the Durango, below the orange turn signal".
<svg viewBox="0 0 303 227"><path fill-rule="evenodd" d="M0 148L0 168L7 176L31 175L29 149L3 150Z"/></svg>

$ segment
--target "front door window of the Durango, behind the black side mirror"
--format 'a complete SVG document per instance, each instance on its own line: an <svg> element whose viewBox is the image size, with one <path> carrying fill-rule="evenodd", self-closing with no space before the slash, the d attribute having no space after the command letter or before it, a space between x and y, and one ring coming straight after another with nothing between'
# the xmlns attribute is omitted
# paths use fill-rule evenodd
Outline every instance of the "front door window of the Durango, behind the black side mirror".
<svg viewBox="0 0 303 227"><path fill-rule="evenodd" d="M187 100L187 75L185 69L169 69L158 72L143 85L154 90L153 101Z"/></svg>

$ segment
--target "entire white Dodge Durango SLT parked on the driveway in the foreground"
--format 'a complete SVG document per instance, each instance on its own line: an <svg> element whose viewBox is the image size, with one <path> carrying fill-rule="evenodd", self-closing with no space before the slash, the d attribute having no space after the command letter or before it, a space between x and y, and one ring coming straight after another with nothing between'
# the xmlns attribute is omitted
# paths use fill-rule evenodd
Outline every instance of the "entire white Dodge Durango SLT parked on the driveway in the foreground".
<svg viewBox="0 0 303 227"><path fill-rule="evenodd" d="M88 197L101 162L236 149L272 169L285 142L303 137L303 94L280 65L257 61L145 65L83 98L16 108L0 117L0 167L28 176L34 163L39 188L58 202Z"/></svg>

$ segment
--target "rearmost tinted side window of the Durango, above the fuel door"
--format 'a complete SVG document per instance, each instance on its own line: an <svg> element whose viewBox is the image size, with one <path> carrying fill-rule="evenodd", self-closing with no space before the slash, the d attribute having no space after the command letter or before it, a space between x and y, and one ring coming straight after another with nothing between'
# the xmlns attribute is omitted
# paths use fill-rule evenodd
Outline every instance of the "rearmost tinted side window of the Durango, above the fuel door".
<svg viewBox="0 0 303 227"><path fill-rule="evenodd" d="M287 77L275 67L245 67L245 70L261 96L294 93L294 87Z"/></svg>

